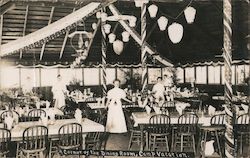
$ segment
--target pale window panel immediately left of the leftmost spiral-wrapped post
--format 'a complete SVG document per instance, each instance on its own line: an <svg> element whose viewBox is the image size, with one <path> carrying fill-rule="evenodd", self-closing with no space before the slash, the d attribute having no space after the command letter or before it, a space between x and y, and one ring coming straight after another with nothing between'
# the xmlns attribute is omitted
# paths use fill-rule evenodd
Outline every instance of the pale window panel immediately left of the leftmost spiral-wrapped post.
<svg viewBox="0 0 250 158"><path fill-rule="evenodd" d="M98 68L84 68L84 85L93 86L99 85L99 69Z"/></svg>

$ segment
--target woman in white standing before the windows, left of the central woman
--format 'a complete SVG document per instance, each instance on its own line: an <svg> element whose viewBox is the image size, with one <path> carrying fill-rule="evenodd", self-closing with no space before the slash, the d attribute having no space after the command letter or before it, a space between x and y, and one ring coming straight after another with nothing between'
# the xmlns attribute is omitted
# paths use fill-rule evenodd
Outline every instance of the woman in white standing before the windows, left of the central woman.
<svg viewBox="0 0 250 158"><path fill-rule="evenodd" d="M57 76L57 82L52 87L53 98L55 99L55 108L60 109L65 106L65 93L67 93L67 87L62 82L61 75Z"/></svg>

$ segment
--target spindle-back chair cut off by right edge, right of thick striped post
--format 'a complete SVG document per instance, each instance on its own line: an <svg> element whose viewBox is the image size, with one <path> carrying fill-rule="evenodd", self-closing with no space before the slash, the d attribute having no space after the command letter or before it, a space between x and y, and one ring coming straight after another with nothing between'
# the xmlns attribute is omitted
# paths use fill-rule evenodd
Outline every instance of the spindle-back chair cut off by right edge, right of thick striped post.
<svg viewBox="0 0 250 158"><path fill-rule="evenodd" d="M249 147L249 137L250 137L250 128L249 128L250 117L248 113L242 114L237 117L237 134L240 136L240 154L243 154L243 141L245 142L244 146ZM246 138L246 139L243 139Z"/></svg>

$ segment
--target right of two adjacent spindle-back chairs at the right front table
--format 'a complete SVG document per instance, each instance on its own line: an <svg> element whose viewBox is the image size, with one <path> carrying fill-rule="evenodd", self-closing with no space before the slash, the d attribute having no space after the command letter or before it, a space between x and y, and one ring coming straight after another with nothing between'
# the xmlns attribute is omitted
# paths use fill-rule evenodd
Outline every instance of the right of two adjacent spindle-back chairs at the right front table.
<svg viewBox="0 0 250 158"><path fill-rule="evenodd" d="M196 153L195 135L197 133L198 121L199 118L194 113L184 113L179 116L177 131L175 132L174 138L174 148L176 148L176 145L180 143L181 152L184 147L192 147L193 152ZM192 144L192 146L189 146L189 144Z"/></svg>

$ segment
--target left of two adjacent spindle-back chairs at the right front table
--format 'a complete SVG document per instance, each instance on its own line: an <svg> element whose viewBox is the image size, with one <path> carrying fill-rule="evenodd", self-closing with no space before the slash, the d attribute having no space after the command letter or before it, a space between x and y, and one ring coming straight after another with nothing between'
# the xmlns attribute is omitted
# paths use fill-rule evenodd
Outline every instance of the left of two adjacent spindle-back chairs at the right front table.
<svg viewBox="0 0 250 158"><path fill-rule="evenodd" d="M170 135L170 117L164 114L151 116L147 127L149 136L149 149L156 150L158 145L165 145L169 151L168 136Z"/></svg>

